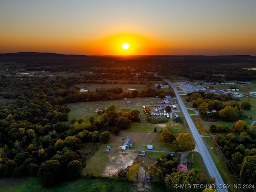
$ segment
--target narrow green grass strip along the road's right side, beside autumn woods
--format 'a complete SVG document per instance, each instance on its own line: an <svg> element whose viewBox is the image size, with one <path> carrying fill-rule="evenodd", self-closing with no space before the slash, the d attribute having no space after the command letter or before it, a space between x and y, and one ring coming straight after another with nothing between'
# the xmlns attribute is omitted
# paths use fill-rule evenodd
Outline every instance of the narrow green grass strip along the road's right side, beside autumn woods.
<svg viewBox="0 0 256 192"><path fill-rule="evenodd" d="M224 158L224 155L217 147L216 142L212 137L203 137L202 138L206 148L208 149L212 160L214 161L220 175L225 184L239 184L237 178L235 177L234 173L231 171L228 162ZM213 149L211 149L213 148ZM241 192L241 189L229 189L229 192Z"/></svg>

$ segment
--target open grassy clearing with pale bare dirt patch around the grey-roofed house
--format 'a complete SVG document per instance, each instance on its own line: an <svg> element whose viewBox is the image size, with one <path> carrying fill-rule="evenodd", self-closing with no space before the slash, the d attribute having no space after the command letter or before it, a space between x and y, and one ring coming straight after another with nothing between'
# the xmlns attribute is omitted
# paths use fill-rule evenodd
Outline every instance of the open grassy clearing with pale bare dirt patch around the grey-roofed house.
<svg viewBox="0 0 256 192"><path fill-rule="evenodd" d="M134 140L134 144L130 150L122 150L122 145L127 138ZM121 132L118 136L111 136L109 142L102 145L96 154L86 162L87 166L82 170L82 174L93 174L96 176L113 176L121 168L125 169L127 166L131 166L139 156L142 150L146 151L144 157L144 165L148 166L152 162L156 162L153 158L147 154L147 145L153 144L152 152L155 152L158 156L161 152L173 153L171 147L168 144L159 142L160 132ZM106 146L110 146L110 151L105 151ZM152 153L151 152L151 153ZM146 161L146 159L148 159Z"/></svg>

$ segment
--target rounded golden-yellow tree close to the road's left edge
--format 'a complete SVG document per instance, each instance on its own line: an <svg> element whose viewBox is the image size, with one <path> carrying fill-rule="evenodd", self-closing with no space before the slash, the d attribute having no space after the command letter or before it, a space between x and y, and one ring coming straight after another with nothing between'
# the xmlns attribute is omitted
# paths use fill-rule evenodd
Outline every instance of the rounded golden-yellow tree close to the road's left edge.
<svg viewBox="0 0 256 192"><path fill-rule="evenodd" d="M172 144L175 151L192 151L196 147L193 136L189 133L180 133Z"/></svg>

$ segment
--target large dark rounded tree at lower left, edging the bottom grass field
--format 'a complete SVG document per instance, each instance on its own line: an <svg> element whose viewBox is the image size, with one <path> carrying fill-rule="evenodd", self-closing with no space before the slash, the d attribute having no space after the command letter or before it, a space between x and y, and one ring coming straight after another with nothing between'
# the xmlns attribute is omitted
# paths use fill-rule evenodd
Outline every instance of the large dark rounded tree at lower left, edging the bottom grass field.
<svg viewBox="0 0 256 192"><path fill-rule="evenodd" d="M56 185L61 178L60 162L48 160L40 165L37 176L42 179L44 187Z"/></svg>

